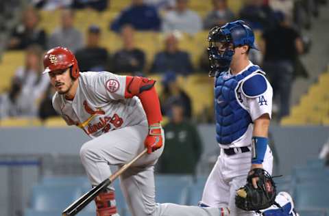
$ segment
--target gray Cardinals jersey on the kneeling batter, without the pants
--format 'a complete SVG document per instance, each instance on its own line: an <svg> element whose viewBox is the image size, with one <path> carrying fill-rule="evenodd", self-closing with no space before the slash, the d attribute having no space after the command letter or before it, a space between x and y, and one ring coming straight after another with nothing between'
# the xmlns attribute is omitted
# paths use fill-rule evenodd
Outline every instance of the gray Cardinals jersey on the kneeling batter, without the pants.
<svg viewBox="0 0 329 216"><path fill-rule="evenodd" d="M125 76L111 72L80 73L73 100L53 96L53 107L67 124L75 124L90 137L145 121L138 97L125 98Z"/></svg>

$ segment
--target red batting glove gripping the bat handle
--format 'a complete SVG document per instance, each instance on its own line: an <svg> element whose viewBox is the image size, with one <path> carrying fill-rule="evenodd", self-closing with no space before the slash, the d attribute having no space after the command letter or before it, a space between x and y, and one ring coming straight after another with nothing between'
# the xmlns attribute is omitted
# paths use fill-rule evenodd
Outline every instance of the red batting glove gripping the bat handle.
<svg viewBox="0 0 329 216"><path fill-rule="evenodd" d="M161 126L149 126L149 134L147 135L144 144L145 148L147 148L147 154L151 154L151 152L162 147Z"/></svg>

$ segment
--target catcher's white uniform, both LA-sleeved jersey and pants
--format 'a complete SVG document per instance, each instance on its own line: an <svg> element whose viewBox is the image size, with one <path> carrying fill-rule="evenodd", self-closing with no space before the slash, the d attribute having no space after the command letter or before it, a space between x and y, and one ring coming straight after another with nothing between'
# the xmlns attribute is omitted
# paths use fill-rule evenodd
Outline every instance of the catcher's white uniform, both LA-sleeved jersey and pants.
<svg viewBox="0 0 329 216"><path fill-rule="evenodd" d="M252 62L250 62L246 68L243 68L241 72L247 70L251 66L254 66ZM259 74L263 74L263 72L255 71L251 75L241 80L241 83L250 77ZM230 70L226 72L226 75L233 76L230 74ZM265 80L267 82L267 90L265 90L263 94L255 97L246 96L243 92L242 85L238 85L236 87L235 94L236 98L238 99L238 103L249 113L249 116L252 118L253 122L264 113L268 113L269 117L271 118L273 89L269 84L269 81L267 81L267 79ZM250 123L247 131L241 137L239 137L239 139L233 141L232 144L219 144L221 147L221 154L219 155L215 166L212 168L212 172L210 173L204 187L202 203L212 207L230 207L230 215L232 216L256 215L254 211L243 211L237 208L234 203L236 190L246 183L247 174L252 165L252 152L249 151L233 155L227 155L223 152L223 148L251 146L253 130L254 126L252 123ZM272 166L273 156L269 146L267 146L263 167L265 170L267 170L267 172L271 174Z"/></svg>

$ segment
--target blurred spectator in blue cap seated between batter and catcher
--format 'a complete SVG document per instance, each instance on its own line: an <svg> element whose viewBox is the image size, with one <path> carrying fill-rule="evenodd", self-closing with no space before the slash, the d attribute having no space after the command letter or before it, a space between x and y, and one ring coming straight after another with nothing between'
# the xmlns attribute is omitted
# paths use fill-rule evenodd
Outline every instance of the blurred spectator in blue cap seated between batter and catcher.
<svg viewBox="0 0 329 216"><path fill-rule="evenodd" d="M184 118L192 118L191 99L182 90L178 84L177 77L174 72L167 72L162 77L163 91L160 96L162 114L170 116L171 104L174 100L180 100L184 105Z"/></svg>

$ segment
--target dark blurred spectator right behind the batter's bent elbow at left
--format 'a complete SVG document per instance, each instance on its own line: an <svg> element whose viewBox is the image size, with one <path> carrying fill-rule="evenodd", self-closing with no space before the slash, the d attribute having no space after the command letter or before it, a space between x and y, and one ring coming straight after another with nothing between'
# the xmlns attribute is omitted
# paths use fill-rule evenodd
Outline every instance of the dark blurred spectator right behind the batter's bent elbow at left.
<svg viewBox="0 0 329 216"><path fill-rule="evenodd" d="M43 121L49 117L59 116L59 114L53 109L53 94L56 93L55 88L52 85L48 85L44 98L40 102L38 109L38 116Z"/></svg>

